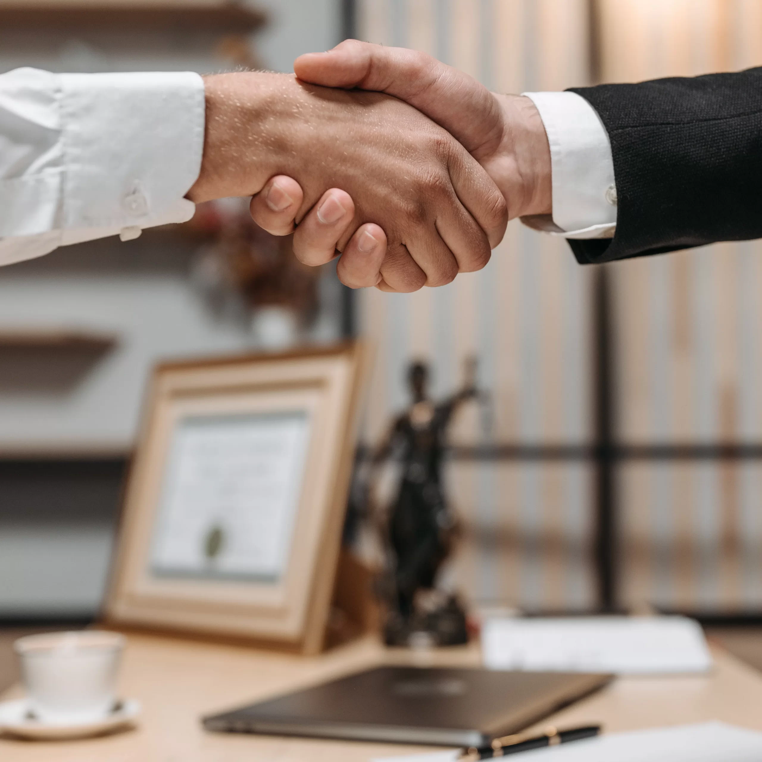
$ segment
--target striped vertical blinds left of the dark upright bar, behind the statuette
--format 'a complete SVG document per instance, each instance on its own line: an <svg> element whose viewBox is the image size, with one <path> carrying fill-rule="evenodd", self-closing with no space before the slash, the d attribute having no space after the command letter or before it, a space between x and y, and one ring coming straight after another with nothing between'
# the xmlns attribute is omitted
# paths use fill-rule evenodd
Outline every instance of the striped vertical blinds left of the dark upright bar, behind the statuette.
<svg viewBox="0 0 762 762"><path fill-rule="evenodd" d="M586 0L361 0L359 37L431 53L502 92L588 82ZM453 443L591 441L591 272L565 243L514 222L479 273L414 294L364 290L363 334L376 345L365 436L379 440L408 402L405 368L431 363L433 391L479 358L491 425L476 405ZM592 466L456 460L447 469L463 539L449 575L472 600L534 609L594 604Z"/></svg>

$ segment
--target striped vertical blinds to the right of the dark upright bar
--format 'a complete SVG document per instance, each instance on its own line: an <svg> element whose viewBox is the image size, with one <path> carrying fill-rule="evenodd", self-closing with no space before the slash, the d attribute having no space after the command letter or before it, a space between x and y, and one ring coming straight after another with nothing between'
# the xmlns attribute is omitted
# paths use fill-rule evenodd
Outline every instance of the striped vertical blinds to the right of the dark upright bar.
<svg viewBox="0 0 762 762"><path fill-rule="evenodd" d="M762 64L759 0L602 0L598 7L604 81ZM754 241L610 266L621 442L762 441L760 255ZM759 460L625 462L619 488L623 603L762 606Z"/></svg>

